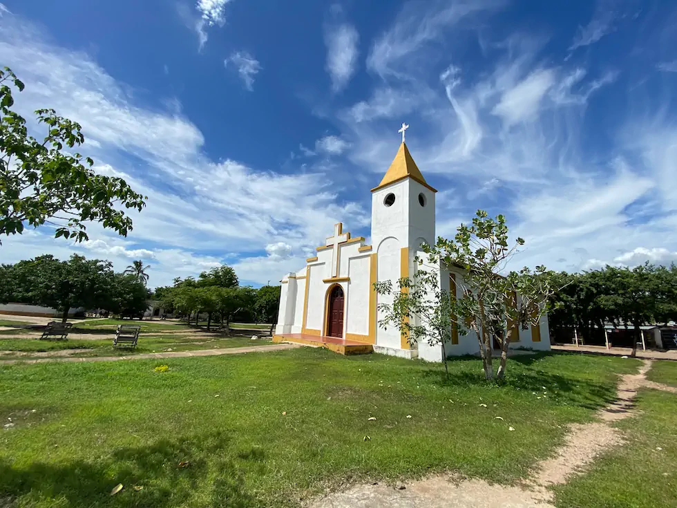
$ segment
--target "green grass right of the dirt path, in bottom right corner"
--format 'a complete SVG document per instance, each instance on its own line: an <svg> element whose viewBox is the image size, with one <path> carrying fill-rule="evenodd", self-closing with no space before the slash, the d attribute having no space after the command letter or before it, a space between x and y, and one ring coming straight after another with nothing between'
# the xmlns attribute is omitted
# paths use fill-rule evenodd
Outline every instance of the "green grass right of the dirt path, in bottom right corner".
<svg viewBox="0 0 677 508"><path fill-rule="evenodd" d="M677 396L645 389L637 408L637 417L619 424L629 442L557 487L557 507L677 506Z"/></svg>

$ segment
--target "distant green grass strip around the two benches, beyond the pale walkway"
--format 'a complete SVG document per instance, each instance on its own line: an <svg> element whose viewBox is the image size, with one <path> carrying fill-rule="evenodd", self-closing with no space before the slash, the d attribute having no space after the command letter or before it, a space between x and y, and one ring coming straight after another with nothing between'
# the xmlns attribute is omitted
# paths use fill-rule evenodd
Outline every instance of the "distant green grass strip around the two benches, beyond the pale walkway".
<svg viewBox="0 0 677 508"><path fill-rule="evenodd" d="M77 337L73 335L71 337ZM272 344L270 341L256 340L244 337L213 338L206 337L182 337L180 335L142 335L135 349L114 348L113 337L96 340L68 339L66 341L41 341L38 339L22 339L21 337L1 337L0 350L44 352L64 349L93 349L75 353L73 356L117 356L138 355L144 352L193 351L200 349L240 348L243 346L263 346ZM19 358L17 356L17 358ZM0 359L15 359L12 355L2 355ZM26 359L26 357L23 357Z"/></svg>

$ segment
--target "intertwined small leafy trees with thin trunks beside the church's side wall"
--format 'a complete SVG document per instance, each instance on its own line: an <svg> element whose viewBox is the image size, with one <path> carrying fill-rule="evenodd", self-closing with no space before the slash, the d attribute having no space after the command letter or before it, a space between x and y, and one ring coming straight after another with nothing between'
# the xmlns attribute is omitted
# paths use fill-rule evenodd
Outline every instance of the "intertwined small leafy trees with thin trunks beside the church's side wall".
<svg viewBox="0 0 677 508"><path fill-rule="evenodd" d="M428 258L426 269L419 271L413 281L407 277L398 281L398 290L391 290L394 301L384 321L398 326L410 341L426 334L444 344L453 325L464 335L468 329L473 330L486 379L494 378L492 346L497 341L501 344L501 359L496 377L504 377L514 330L535 326L553 292L552 274L543 266L534 272L525 267L507 276L501 274L520 245L524 240L517 238L515 245L508 248L504 216L488 218L486 211L478 210L472 225L461 224L452 240L439 237L435 245L422 246ZM425 260L418 261L423 265ZM450 298L439 290L440 269L450 267L463 273L460 297L455 294ZM379 283L375 287L377 291L384 289Z"/></svg>

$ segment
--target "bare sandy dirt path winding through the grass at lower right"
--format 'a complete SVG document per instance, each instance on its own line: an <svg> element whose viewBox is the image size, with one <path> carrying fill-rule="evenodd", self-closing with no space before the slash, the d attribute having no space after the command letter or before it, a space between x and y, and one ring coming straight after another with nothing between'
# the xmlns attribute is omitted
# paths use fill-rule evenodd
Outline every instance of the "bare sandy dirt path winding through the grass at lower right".
<svg viewBox="0 0 677 508"><path fill-rule="evenodd" d="M624 443L623 434L613 422L633 414L633 400L638 388L646 386L677 393L677 388L648 381L651 360L645 360L636 374L624 375L617 389L617 399L600 410L594 422L573 424L564 444L552 458L536 465L524 488L489 485L484 480L457 480L453 476L434 476L400 485L357 485L344 492L332 493L316 500L312 508L554 508L549 487L560 485L581 473L611 446Z"/></svg>

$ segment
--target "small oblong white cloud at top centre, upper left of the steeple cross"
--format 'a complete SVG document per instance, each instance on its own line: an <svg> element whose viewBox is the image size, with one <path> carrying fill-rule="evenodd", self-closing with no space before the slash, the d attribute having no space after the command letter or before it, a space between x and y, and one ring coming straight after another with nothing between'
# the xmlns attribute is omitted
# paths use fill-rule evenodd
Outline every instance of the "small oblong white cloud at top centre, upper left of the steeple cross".
<svg viewBox="0 0 677 508"><path fill-rule="evenodd" d="M332 79L334 92L343 90L354 75L358 63L359 34L348 23L325 28L327 46L327 72Z"/></svg>

